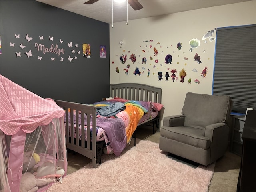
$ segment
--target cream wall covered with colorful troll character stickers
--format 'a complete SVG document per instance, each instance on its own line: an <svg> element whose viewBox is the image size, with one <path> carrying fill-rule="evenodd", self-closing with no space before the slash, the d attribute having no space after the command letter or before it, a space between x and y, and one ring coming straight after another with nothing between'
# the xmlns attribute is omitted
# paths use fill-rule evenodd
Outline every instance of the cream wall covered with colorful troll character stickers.
<svg viewBox="0 0 256 192"><path fill-rule="evenodd" d="M162 104L165 107L162 115L180 114L186 92L212 94L215 40L210 42L208 38L205 43L202 40L204 34L214 28L248 24L256 24L256 1L130 20L129 25L126 25L126 22L118 22L114 23L114 28L110 24L110 83L135 82L162 87ZM216 37L216 32L212 37ZM200 46L189 51L189 41L193 38L200 40ZM119 47L120 40L124 42L122 48ZM144 42L146 40L153 41ZM176 47L178 42L182 43L181 50ZM154 56L154 47L158 50L157 56ZM194 60L196 53L201 57L200 64ZM122 54L127 54L125 64L120 62ZM136 55L134 64L129 59L131 54ZM165 64L167 54L172 55L172 64ZM150 60L150 56L153 60ZM146 64L142 64L143 57L147 59ZM184 60L184 57L188 60ZM159 61L157 64L156 59ZM128 64L129 74L126 75L123 69ZM119 73L116 72L116 67L119 68ZM133 74L136 67L141 72L140 76ZM145 69L142 69L143 67ZM208 67L208 73L206 77L202 77L201 73L205 67ZM192 71L194 68L197 72ZM169 81L164 77L166 72L171 75L171 69L177 70L178 80L175 82L172 82L171 77L168 78ZM187 73L184 83L180 82L179 78L182 69ZM163 73L161 81L158 81L159 71ZM191 84L188 83L189 78L192 80ZM198 79L200 84L195 83L195 79Z"/></svg>

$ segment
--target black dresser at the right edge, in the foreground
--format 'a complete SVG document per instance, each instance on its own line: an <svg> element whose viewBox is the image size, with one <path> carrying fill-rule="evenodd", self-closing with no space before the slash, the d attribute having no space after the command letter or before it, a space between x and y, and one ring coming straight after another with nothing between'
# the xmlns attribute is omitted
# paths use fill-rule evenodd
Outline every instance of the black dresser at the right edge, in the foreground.
<svg viewBox="0 0 256 192"><path fill-rule="evenodd" d="M256 192L256 110L248 110L242 133L237 192Z"/></svg>

